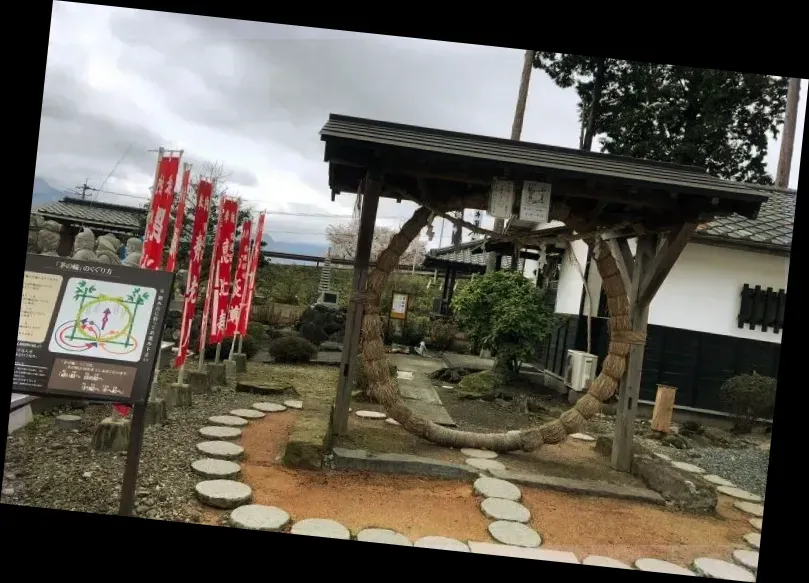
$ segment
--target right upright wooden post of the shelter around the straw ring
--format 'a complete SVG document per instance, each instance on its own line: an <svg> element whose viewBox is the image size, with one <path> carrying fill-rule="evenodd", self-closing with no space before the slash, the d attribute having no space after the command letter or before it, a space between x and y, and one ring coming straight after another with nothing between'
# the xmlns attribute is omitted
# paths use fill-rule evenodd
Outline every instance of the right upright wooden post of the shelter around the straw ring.
<svg viewBox="0 0 809 583"><path fill-rule="evenodd" d="M655 235L642 235L638 238L632 287L629 289L629 314L632 330L643 332L644 334L649 320L649 304L640 304L638 294L646 266L653 258L656 239ZM629 472L632 469L635 417L638 413L643 354L643 344L632 345L629 351L626 372L618 389L618 410L615 419L615 434L610 462L614 469L621 472Z"/></svg>

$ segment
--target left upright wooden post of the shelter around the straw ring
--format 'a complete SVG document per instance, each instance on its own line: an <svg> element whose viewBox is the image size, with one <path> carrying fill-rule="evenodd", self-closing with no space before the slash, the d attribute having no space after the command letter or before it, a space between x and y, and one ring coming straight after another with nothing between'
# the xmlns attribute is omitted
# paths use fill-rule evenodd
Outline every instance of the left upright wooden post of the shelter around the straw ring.
<svg viewBox="0 0 809 583"><path fill-rule="evenodd" d="M371 258L371 242L374 236L376 211L379 207L379 193L382 190L382 176L368 172L362 196L362 214L357 251L354 254L354 289L346 311L345 340L340 358L340 378L337 385L337 398L332 416L332 433L345 435L348 431L348 409L351 404L351 391L354 388L354 374L357 366L362 316L365 303L362 297L368 280L368 263Z"/></svg>

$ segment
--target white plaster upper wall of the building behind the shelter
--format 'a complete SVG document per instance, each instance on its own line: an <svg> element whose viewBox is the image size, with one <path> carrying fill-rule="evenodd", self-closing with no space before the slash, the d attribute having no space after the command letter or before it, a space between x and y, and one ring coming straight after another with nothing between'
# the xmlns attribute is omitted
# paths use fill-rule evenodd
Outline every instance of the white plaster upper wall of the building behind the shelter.
<svg viewBox="0 0 809 583"><path fill-rule="evenodd" d="M587 245L576 241L573 247L583 264ZM634 253L634 240L629 241L629 247ZM776 334L772 329L762 332L760 327L739 328L736 317L745 283L786 290L788 272L786 257L689 243L652 300L649 323L780 344L780 332ZM589 280L595 313L601 287L595 266L590 269ZM566 257L559 276L556 311L578 314L582 293L581 275Z"/></svg>

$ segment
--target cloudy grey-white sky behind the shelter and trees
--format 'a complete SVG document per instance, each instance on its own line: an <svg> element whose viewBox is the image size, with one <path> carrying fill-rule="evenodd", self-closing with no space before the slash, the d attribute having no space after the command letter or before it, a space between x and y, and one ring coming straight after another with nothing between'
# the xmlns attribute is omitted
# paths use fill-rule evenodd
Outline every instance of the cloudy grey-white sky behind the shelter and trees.
<svg viewBox="0 0 809 583"><path fill-rule="evenodd" d="M320 243L346 219L311 215L353 204L330 199L318 136L329 113L508 137L522 61L513 49L54 2L37 176L103 183L102 200L135 204L153 179L148 150L184 149L197 168L223 162L229 190L271 213L276 240ZM804 81L792 187L806 95ZM576 147L576 102L535 72L522 139ZM379 222L413 208L383 201Z"/></svg>

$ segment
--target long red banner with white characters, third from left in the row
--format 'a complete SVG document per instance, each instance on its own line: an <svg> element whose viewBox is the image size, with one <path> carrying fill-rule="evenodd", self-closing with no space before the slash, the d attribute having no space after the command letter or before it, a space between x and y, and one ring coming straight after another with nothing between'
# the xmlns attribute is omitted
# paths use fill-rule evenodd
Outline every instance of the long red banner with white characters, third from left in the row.
<svg viewBox="0 0 809 583"><path fill-rule="evenodd" d="M211 183L200 180L197 184L197 206L194 209L194 231L191 235L191 247L188 252L188 279L185 284L180 343L177 347L177 358L174 360L174 366L177 367L184 365L188 358L188 339L191 336L191 323L194 321L194 312L197 309L199 278L202 272L202 257L205 255L205 239L208 236L208 216L211 211L212 194Z"/></svg>

